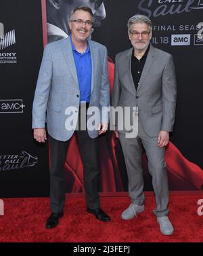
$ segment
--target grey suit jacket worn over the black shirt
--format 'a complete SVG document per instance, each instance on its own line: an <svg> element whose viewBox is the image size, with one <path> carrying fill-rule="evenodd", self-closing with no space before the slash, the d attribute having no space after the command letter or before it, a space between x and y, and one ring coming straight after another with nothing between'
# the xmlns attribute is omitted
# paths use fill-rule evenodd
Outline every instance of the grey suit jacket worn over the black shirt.
<svg viewBox="0 0 203 256"><path fill-rule="evenodd" d="M171 132L175 121L177 86L171 54L150 45L137 91L131 75L133 48L116 55L112 107L131 107L131 124L139 109L139 122L148 136L158 136L160 130ZM116 130L117 123L116 121ZM128 128L119 130L125 134Z"/></svg>

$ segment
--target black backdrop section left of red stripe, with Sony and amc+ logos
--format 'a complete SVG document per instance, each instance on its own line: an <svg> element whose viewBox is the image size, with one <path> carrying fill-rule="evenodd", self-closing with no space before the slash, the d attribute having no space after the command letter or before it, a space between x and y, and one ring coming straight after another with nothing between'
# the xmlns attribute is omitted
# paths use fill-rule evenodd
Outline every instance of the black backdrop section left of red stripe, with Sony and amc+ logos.
<svg viewBox="0 0 203 256"><path fill-rule="evenodd" d="M0 197L48 196L47 145L32 137L32 100L41 57L41 1L1 0Z"/></svg>

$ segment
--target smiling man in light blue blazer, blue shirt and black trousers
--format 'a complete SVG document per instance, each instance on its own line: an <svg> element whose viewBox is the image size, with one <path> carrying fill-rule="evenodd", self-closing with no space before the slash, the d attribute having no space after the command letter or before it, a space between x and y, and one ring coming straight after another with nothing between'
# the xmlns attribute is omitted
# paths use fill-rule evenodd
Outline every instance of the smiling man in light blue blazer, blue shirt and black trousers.
<svg viewBox="0 0 203 256"><path fill-rule="evenodd" d="M51 147L51 215L47 219L47 228L58 225L59 218L63 216L64 163L68 143L74 132L83 160L87 212L100 221L110 220L99 204L97 166L97 136L108 128L108 55L104 45L87 39L92 24L91 9L86 6L76 7L70 16L70 37L46 45L39 71L32 109L32 128L35 139L45 143L45 118L47 119ZM97 114L94 126L88 125L92 116L89 109L83 115L83 105L99 110L95 111ZM86 117L87 124L85 121L84 128ZM71 120L78 120L78 129L71 125Z"/></svg>

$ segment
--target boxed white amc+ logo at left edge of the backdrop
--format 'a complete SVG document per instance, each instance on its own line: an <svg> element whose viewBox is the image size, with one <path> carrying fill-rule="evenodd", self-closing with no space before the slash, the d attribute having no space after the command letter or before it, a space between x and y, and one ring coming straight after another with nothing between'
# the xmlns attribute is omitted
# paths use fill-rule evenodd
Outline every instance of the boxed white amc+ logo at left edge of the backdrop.
<svg viewBox="0 0 203 256"><path fill-rule="evenodd" d="M0 100L0 113L23 113L25 105L22 99Z"/></svg>

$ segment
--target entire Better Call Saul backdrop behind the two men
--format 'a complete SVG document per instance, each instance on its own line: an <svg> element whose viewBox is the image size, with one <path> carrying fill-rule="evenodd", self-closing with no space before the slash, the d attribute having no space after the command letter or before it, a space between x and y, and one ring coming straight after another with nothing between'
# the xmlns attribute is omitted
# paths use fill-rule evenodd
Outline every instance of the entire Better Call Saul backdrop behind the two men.
<svg viewBox="0 0 203 256"><path fill-rule="evenodd" d="M0 197L49 196L49 145L32 138L32 100L43 47L68 37L72 8L93 10L92 39L108 48L110 90L114 58L131 48L127 21L135 14L154 24L152 44L173 55L177 74L177 113L166 165L171 190L203 189L201 0L1 0L0 1ZM145 190L152 190L143 152ZM99 138L100 191L127 191L120 143L112 132ZM66 191L82 192L83 164L73 136L64 165Z"/></svg>

